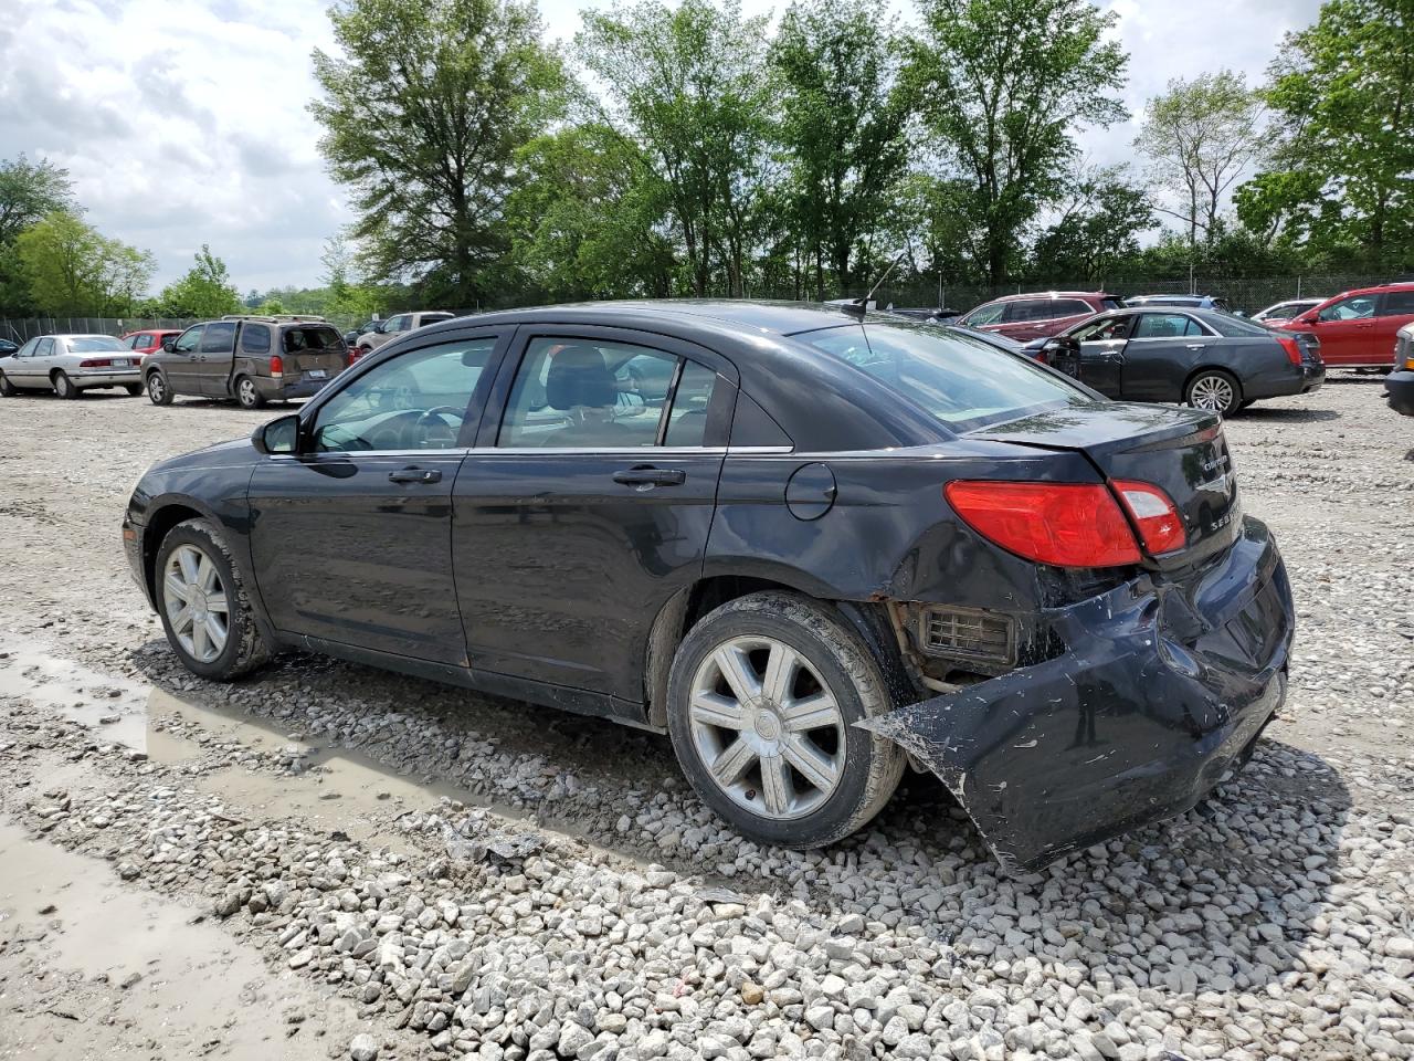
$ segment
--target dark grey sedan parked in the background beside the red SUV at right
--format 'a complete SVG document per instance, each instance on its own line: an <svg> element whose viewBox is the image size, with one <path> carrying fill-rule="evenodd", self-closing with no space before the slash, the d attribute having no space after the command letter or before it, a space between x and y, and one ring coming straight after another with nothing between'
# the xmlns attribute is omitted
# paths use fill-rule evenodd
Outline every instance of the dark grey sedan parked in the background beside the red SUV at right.
<svg viewBox="0 0 1414 1061"><path fill-rule="evenodd" d="M1225 416L1325 382L1319 342L1215 310L1114 310L1028 344L1102 395Z"/></svg>

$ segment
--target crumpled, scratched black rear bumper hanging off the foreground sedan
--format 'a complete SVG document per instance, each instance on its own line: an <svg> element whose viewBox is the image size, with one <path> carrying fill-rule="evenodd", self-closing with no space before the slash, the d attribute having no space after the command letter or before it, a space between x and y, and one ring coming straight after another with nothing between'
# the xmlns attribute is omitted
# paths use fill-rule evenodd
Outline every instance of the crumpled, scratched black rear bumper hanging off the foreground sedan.
<svg viewBox="0 0 1414 1061"><path fill-rule="evenodd" d="M1145 574L1046 618L1063 655L860 723L937 774L1012 871L1208 795L1281 706L1295 625L1254 519L1186 579Z"/></svg>

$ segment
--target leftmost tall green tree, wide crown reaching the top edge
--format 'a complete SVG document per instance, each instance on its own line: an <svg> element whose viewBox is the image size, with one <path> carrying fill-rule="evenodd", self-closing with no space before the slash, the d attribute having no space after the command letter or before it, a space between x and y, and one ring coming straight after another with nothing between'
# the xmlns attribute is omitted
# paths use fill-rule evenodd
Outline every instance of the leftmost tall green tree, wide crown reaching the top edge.
<svg viewBox="0 0 1414 1061"><path fill-rule="evenodd" d="M375 279L484 298L508 249L516 149L560 106L563 71L520 0L342 0L341 55L314 52L320 149L354 194Z"/></svg>

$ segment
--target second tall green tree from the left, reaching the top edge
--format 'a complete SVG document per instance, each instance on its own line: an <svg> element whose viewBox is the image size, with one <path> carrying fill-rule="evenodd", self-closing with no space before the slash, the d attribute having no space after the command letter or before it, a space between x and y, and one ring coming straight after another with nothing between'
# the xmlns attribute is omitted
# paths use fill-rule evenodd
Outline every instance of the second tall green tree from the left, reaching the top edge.
<svg viewBox="0 0 1414 1061"><path fill-rule="evenodd" d="M604 86L605 122L663 182L693 294L745 293L769 174L766 18L683 0L583 13L575 52Z"/></svg>

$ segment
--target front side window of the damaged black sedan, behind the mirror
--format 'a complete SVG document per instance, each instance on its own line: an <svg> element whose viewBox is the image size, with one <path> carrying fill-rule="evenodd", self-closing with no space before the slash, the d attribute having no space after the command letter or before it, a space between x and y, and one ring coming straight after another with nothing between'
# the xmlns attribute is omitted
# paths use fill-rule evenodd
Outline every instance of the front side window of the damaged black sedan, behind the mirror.
<svg viewBox="0 0 1414 1061"><path fill-rule="evenodd" d="M320 453L447 450L479 412L493 335L385 361L339 390L314 422Z"/></svg>

